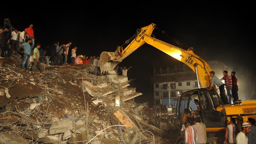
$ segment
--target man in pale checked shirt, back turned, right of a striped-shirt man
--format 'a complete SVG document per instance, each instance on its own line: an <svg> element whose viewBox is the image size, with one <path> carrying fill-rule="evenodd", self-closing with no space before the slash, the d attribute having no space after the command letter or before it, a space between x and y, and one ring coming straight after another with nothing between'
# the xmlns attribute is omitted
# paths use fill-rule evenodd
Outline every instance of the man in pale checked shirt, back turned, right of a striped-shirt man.
<svg viewBox="0 0 256 144"><path fill-rule="evenodd" d="M204 137L204 127L200 124L200 118L194 118L193 127L197 131L197 144L206 144L205 137Z"/></svg>

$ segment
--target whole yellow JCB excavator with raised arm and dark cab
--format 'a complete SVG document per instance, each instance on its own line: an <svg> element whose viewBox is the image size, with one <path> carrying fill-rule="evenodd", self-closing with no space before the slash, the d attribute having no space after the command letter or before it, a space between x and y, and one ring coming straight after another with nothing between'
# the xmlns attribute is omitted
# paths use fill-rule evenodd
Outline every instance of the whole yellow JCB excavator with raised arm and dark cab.
<svg viewBox="0 0 256 144"><path fill-rule="evenodd" d="M200 116L202 122L206 125L208 144L223 143L225 140L226 126L230 123L231 117L236 118L238 115L241 115L244 121L247 121L249 117L256 119L256 100L245 102L238 101L236 105L223 105L222 99L217 93L216 85L214 85L214 89L210 91L205 88L210 86L212 79L209 75L211 68L207 61L200 57L193 48L181 45L181 43L174 38L170 37L181 45L182 48L152 37L151 35L153 35L152 32L155 28L157 28L156 24L151 23L141 29L137 29L136 34L125 41L123 45L118 46L115 52L102 52L100 55L101 73L115 73L113 69L117 64L121 63L124 58L137 50L140 46L147 43L171 57L176 58L178 61L183 62L197 75L198 88L184 92L177 99L176 117L180 126L182 125L181 115L184 113L184 109L189 109L190 114L192 114L193 110L191 107L195 105L195 99L200 103L200 112L195 115L195 117ZM167 35L165 31L162 31L162 33ZM124 45L128 46L123 48ZM201 84L203 84L203 86ZM183 143L183 137L179 137L176 143Z"/></svg>

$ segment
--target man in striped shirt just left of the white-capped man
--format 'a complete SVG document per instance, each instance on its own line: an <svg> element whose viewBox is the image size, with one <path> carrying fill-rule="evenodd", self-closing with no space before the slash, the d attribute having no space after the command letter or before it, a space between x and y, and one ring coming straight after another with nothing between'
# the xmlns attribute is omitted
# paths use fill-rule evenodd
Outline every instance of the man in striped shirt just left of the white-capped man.
<svg viewBox="0 0 256 144"><path fill-rule="evenodd" d="M230 124L227 125L224 144L236 143L236 118L230 119Z"/></svg>

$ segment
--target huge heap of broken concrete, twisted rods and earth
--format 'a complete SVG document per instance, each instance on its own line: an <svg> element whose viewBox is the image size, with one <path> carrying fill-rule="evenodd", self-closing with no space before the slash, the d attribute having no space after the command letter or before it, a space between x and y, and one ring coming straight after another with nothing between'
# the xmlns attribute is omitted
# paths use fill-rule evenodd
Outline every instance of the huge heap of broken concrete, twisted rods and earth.
<svg viewBox="0 0 256 144"><path fill-rule="evenodd" d="M0 59L0 143L175 143L143 124L143 107L127 76L95 75L90 64L21 69L21 57ZM118 104L120 103L120 104Z"/></svg>

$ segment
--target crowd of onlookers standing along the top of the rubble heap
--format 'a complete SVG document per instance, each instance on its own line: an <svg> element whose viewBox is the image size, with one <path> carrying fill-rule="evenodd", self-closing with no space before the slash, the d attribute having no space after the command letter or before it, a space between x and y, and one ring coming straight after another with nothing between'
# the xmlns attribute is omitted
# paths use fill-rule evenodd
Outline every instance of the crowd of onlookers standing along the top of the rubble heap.
<svg viewBox="0 0 256 144"><path fill-rule="evenodd" d="M14 31L10 31L9 26L4 26L4 29L0 28L0 50L1 58L10 57L12 53L16 52L22 56L21 68L30 70L29 62L30 56L33 58L33 66L31 71L34 71L37 66L41 72L41 63L48 66L67 64L69 55L69 48L72 45L72 41L62 43L59 45L59 41L53 42L52 45L47 45L45 48L41 48L41 44L35 45L35 35L33 24L30 24L28 28L23 31L19 31L15 28ZM78 55L77 46L74 46L71 50L71 63L70 64L94 64L99 67L99 56Z"/></svg>

